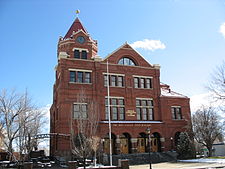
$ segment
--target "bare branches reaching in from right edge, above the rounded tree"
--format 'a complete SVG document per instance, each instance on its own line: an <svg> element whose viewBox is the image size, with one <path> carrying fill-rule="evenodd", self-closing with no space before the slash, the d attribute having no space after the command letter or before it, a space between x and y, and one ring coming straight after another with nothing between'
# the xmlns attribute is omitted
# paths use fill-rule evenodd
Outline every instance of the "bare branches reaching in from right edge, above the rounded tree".
<svg viewBox="0 0 225 169"><path fill-rule="evenodd" d="M216 68L207 88L213 93L215 101L221 101L221 107L225 110L225 61Z"/></svg>

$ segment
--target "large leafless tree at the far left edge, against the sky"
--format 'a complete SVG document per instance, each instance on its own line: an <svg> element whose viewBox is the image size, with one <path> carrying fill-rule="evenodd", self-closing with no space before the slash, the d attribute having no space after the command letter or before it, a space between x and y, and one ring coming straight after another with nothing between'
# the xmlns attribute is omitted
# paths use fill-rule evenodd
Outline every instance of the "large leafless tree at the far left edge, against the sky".
<svg viewBox="0 0 225 169"><path fill-rule="evenodd" d="M22 152L29 152L31 142L29 134L40 129L41 113L37 111L28 93L2 90L0 93L0 133L4 133L4 145L13 158L15 148ZM32 134L36 134L34 132ZM17 144L18 143L18 144ZM17 145L17 146L16 146ZM16 147L15 147L16 146ZM32 146L31 146L32 147ZM29 150L28 150L29 149Z"/></svg>

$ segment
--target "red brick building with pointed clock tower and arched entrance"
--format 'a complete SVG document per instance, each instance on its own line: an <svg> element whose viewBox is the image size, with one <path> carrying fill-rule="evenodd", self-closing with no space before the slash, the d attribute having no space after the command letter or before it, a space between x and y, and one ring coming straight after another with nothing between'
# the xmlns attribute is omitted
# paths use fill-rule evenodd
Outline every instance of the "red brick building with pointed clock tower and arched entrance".
<svg viewBox="0 0 225 169"><path fill-rule="evenodd" d="M129 44L105 59L97 55L97 45L78 18L59 38L51 133L70 133L71 113L76 116L77 93L83 88L99 105L98 135L105 138L104 151L108 152L108 60L113 153L147 151L145 131L150 126L152 151L173 149L190 120L189 98L160 83L160 66L150 64ZM52 138L50 151L51 155L69 155L70 141Z"/></svg>

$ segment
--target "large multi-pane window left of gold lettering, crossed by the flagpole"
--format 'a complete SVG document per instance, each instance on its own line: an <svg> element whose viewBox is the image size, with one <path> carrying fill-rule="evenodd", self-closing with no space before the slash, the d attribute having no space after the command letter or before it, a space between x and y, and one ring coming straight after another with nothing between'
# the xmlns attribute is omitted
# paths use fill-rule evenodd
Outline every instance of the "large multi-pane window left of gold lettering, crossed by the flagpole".
<svg viewBox="0 0 225 169"><path fill-rule="evenodd" d="M110 114L112 120L125 120L125 106L123 98L110 98ZM105 98L105 118L108 120L108 99Z"/></svg>

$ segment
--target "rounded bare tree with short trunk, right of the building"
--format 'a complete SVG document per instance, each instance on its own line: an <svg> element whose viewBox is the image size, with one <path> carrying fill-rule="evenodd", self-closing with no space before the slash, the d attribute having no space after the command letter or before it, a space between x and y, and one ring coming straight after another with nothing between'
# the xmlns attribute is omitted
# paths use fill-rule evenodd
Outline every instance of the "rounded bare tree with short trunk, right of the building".
<svg viewBox="0 0 225 169"><path fill-rule="evenodd" d="M212 107L202 106L192 116L192 127L195 140L205 146L212 156L213 143L221 137L224 129L219 115Z"/></svg>

